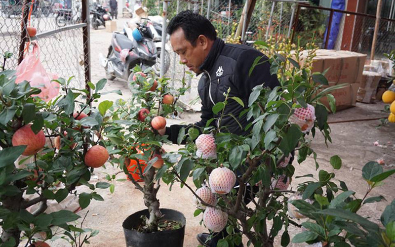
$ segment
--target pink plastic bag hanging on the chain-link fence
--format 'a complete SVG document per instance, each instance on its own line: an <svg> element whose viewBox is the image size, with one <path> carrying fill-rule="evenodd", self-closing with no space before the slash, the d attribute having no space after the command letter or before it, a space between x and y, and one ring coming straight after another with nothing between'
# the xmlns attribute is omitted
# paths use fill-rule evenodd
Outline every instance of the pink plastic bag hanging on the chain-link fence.
<svg viewBox="0 0 395 247"><path fill-rule="evenodd" d="M55 74L47 73L40 62L40 49L37 42L34 42L33 51L26 54L25 58L16 68L16 83L23 81L30 82L32 87L41 89L37 94L45 102L48 102L59 94L59 84L51 82L58 79Z"/></svg>

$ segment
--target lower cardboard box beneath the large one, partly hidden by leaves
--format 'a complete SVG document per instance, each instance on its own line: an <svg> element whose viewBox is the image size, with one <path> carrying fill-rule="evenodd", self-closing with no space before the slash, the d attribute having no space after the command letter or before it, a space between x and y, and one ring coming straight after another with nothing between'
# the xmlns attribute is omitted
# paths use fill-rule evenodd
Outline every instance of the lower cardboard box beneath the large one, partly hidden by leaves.
<svg viewBox="0 0 395 247"><path fill-rule="evenodd" d="M334 82L330 83L330 86L331 85L334 85ZM332 94L336 99L336 111L356 106L356 93L358 91L358 87L359 83L351 83L343 88L330 92L330 94ZM330 109L326 96L322 97L320 101Z"/></svg>

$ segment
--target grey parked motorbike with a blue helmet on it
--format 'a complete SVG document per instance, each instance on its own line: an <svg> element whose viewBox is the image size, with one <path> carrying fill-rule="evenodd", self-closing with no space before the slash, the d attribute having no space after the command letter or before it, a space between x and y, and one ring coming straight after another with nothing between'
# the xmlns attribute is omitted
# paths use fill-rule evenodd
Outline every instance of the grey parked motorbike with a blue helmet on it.
<svg viewBox="0 0 395 247"><path fill-rule="evenodd" d="M132 69L136 65L144 71L155 65L157 57L151 30L138 24L130 38L118 32L113 34L107 58L102 66L106 70L107 79L114 80L118 77L130 82L134 75Z"/></svg>

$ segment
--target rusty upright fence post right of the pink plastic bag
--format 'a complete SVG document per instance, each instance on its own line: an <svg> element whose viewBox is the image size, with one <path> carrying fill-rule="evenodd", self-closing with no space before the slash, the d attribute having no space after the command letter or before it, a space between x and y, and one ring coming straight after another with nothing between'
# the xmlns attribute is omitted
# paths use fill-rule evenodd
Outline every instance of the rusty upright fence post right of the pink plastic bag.
<svg viewBox="0 0 395 247"><path fill-rule="evenodd" d="M82 0L82 20L86 23L86 26L82 28L83 33L83 63L85 70L85 89L88 90L89 95L87 95L87 99L90 99L90 87L88 86L88 82L90 82L90 41L89 41L89 33L90 33L90 21L89 21L89 0Z"/></svg>

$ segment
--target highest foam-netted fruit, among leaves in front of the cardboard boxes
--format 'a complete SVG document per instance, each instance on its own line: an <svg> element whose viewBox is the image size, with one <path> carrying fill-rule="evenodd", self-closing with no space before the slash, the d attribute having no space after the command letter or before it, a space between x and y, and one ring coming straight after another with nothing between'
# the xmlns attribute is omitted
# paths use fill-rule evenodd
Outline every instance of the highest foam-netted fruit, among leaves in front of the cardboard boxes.
<svg viewBox="0 0 395 247"><path fill-rule="evenodd" d="M307 104L306 108L296 108L289 117L289 123L299 125L303 133L307 133L313 128L314 121L316 121L316 110L310 104Z"/></svg>

